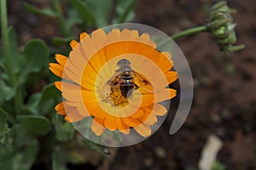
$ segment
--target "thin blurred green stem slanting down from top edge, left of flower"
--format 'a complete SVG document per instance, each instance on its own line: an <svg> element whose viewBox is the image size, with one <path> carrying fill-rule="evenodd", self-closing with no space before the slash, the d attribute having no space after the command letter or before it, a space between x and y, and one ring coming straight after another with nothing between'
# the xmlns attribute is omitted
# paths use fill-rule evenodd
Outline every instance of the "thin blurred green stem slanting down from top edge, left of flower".
<svg viewBox="0 0 256 170"><path fill-rule="evenodd" d="M57 13L58 20L60 21L62 34L63 36L67 37L68 36L67 24L65 23L65 19L61 13L61 6L60 6L59 0L53 0L53 6Z"/></svg>

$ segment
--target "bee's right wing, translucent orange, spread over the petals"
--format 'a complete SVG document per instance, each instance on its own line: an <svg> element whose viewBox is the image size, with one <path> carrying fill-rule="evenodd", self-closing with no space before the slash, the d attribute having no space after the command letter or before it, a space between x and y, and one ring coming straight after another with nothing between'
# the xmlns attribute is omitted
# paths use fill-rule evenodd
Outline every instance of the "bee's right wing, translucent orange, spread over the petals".
<svg viewBox="0 0 256 170"><path fill-rule="evenodd" d="M144 88L149 93L154 93L154 88L152 84L148 81L148 78L144 77L136 71L132 71L132 76L138 88Z"/></svg>

